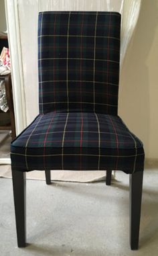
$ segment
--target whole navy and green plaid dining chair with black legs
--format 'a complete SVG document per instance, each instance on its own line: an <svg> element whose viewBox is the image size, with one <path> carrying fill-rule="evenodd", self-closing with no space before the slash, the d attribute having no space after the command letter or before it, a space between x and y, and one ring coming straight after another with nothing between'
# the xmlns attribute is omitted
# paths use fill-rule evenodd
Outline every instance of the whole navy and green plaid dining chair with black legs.
<svg viewBox="0 0 158 256"><path fill-rule="evenodd" d="M19 247L25 247L25 171L106 170L130 175L131 249L138 249L143 144L117 115L121 15L39 13L40 114L11 143Z"/></svg>

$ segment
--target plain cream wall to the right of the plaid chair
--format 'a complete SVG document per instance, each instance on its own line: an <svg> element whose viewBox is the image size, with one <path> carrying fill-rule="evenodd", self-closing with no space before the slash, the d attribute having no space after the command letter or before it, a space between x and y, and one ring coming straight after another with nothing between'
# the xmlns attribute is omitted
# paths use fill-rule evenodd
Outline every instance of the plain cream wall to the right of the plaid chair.
<svg viewBox="0 0 158 256"><path fill-rule="evenodd" d="M143 0L120 81L119 115L158 159L158 0Z"/></svg>

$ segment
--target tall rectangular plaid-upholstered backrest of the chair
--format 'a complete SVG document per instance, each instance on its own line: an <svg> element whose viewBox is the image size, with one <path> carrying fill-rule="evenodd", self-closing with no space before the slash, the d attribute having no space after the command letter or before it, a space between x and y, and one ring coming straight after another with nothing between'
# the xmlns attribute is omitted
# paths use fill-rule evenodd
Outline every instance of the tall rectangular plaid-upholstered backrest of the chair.
<svg viewBox="0 0 158 256"><path fill-rule="evenodd" d="M121 14L44 11L38 20L40 113L117 114Z"/></svg>

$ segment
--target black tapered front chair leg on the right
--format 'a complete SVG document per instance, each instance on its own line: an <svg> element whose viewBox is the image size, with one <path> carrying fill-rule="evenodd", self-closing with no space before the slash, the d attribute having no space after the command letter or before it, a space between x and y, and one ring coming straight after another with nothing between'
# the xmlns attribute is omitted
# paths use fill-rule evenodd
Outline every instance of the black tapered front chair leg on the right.
<svg viewBox="0 0 158 256"><path fill-rule="evenodd" d="M130 245L132 250L139 248L142 186L143 171L130 174Z"/></svg>

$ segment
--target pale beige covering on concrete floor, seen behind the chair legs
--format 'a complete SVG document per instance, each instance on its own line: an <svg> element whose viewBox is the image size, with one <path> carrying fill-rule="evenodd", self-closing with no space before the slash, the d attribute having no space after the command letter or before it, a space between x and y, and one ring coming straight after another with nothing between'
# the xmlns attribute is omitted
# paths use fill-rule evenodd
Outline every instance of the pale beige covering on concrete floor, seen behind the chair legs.
<svg viewBox="0 0 158 256"><path fill-rule="evenodd" d="M30 171L27 179L45 179L44 171ZM0 165L0 177L11 178L11 166ZM51 171L52 181L92 182L106 179L106 171Z"/></svg>

